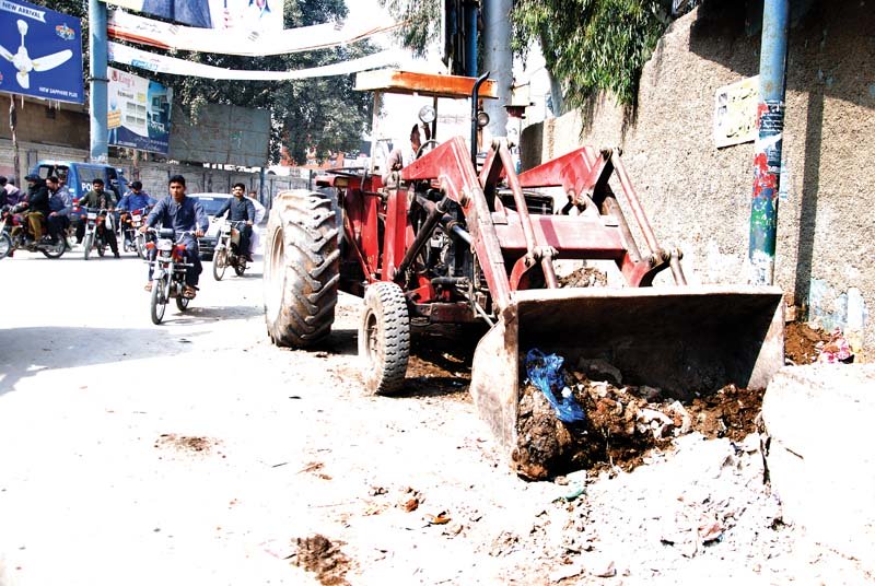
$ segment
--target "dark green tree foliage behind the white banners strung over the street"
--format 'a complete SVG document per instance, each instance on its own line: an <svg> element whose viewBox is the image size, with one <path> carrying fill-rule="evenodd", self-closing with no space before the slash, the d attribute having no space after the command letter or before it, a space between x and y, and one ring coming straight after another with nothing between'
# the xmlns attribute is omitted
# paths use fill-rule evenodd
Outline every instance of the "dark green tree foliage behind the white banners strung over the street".
<svg viewBox="0 0 875 586"><path fill-rule="evenodd" d="M86 19L85 4L81 0L45 0L44 4L52 10ZM145 16L154 19L148 14ZM285 28L338 21L346 16L347 5L343 0L285 0L284 2ZM83 21L83 28L85 25L86 22ZM271 71L319 67L363 57L376 50L368 42L331 49L267 57L162 51L153 47L145 49L226 69ZM316 149L317 156L320 157L327 155L328 151L358 150L362 134L370 127L371 95L353 91L353 75L282 82L228 81L150 73L136 68L110 65L173 87L174 102L194 118L197 118L200 108L206 104L270 109L270 154L273 162L279 160L282 146L285 146L292 159L299 163L304 162L304 152L311 146Z"/></svg>

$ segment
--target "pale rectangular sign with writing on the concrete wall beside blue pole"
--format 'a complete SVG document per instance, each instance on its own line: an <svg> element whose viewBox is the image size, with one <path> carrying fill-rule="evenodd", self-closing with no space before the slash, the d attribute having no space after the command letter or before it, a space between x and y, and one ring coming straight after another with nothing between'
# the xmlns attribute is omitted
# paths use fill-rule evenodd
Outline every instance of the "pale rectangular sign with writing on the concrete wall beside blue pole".
<svg viewBox="0 0 875 586"><path fill-rule="evenodd" d="M718 149L757 139L759 75L719 87L714 95L714 143Z"/></svg>

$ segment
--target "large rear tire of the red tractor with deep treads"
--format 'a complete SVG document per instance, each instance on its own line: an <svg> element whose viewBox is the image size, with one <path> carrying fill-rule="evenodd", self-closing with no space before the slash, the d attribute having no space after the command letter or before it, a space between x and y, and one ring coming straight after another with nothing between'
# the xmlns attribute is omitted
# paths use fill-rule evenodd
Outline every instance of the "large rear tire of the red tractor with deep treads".
<svg viewBox="0 0 875 586"><path fill-rule="evenodd" d="M331 332L340 250L331 199L304 189L273 200L266 231L265 321L277 345L306 348Z"/></svg>

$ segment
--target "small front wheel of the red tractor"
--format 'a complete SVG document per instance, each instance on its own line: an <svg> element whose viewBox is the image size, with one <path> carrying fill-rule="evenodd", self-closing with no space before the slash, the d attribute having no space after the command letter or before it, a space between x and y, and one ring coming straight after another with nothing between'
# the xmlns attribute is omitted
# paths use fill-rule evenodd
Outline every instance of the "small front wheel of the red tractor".
<svg viewBox="0 0 875 586"><path fill-rule="evenodd" d="M404 384L410 358L410 317L401 288L381 281L368 288L359 327L359 356L364 360L364 388L389 395Z"/></svg>

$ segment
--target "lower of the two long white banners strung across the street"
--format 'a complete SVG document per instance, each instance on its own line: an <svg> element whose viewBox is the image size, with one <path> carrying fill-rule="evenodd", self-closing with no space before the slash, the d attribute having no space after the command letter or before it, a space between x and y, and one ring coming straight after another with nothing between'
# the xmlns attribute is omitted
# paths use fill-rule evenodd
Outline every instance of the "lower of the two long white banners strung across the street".
<svg viewBox="0 0 875 586"><path fill-rule="evenodd" d="M174 75L191 75L214 80L245 80L245 81L288 81L307 80L312 78L328 78L331 75L346 75L369 69L380 69L396 65L397 55L393 51L381 51L359 59L331 63L329 66L294 71L247 71L240 69L224 69L206 63L196 63L175 57L155 55L144 50L109 42L109 60L116 63L128 65L148 71L171 73Z"/></svg>

